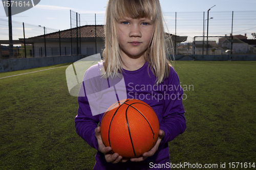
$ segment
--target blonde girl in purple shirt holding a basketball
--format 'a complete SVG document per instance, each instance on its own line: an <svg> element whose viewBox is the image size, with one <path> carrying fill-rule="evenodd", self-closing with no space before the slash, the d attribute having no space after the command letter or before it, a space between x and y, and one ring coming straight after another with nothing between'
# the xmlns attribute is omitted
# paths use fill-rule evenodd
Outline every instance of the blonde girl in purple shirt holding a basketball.
<svg viewBox="0 0 256 170"><path fill-rule="evenodd" d="M111 147L105 147L102 142L100 124L97 127L103 112L92 114L95 105L91 105L89 90L84 90L85 96L78 97L76 132L98 151L94 169L169 169L168 142L183 133L186 124L182 105L183 90L175 70L166 59L168 34L164 33L160 2L109 0L105 19L104 60L89 68L84 79L89 80L95 72L99 77L102 70L105 74L101 79L121 74L127 98L142 100L156 112L159 137L152 150L141 157L127 160L118 153L111 154ZM101 86L97 84L99 82L90 81L95 88ZM84 86L83 83L81 89Z"/></svg>

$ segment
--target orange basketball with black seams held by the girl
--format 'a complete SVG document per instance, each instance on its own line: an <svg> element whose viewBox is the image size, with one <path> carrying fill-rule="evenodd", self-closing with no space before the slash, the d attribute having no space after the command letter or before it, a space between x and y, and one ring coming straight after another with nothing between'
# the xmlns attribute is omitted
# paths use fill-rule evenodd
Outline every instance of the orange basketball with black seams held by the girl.
<svg viewBox="0 0 256 170"><path fill-rule="evenodd" d="M159 134L154 110L145 102L125 99L114 103L101 119L101 138L106 147L124 158L150 151Z"/></svg>

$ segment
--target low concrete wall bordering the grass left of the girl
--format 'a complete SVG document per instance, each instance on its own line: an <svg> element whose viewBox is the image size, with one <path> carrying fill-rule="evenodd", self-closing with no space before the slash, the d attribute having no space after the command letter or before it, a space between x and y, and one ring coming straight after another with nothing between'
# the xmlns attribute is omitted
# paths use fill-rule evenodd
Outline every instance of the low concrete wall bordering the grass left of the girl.
<svg viewBox="0 0 256 170"><path fill-rule="evenodd" d="M75 62L87 56L88 55L73 55L73 56L35 57L35 58L19 58L19 59L4 59L4 60L0 59L0 72Z"/></svg>

